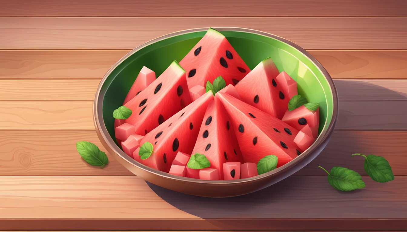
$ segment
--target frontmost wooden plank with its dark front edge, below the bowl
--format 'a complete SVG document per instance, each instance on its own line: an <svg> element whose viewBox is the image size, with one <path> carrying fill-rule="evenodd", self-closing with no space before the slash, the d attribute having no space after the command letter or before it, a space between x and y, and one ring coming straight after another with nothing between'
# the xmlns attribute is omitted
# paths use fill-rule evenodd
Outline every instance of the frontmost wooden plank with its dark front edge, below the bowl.
<svg viewBox="0 0 407 232"><path fill-rule="evenodd" d="M291 176L250 195L211 199L147 186L138 177L2 177L0 228L385 230L387 219L392 229L407 229L400 213L407 209L407 177L365 182L366 189L343 194L324 176Z"/></svg>

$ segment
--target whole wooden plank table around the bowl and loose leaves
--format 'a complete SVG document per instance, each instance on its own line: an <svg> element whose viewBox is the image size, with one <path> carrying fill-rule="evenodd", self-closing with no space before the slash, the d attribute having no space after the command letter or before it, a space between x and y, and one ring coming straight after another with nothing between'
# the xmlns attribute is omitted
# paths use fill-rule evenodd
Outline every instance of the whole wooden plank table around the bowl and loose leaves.
<svg viewBox="0 0 407 232"><path fill-rule="evenodd" d="M2 0L0 230L407 230L407 2L402 0ZM206 199L147 184L112 156L91 167L77 141L105 72L177 30L237 26L285 37L335 78L339 121L326 149L250 195ZM338 192L317 168L363 171L385 156L396 178Z"/></svg>

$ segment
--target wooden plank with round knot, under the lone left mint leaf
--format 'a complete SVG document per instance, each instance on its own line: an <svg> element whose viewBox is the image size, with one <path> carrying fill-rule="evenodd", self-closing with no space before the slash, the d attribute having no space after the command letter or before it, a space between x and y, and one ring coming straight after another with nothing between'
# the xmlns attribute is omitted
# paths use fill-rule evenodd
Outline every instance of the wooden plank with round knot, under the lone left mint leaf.
<svg viewBox="0 0 407 232"><path fill-rule="evenodd" d="M85 163L75 143L90 141L103 149L94 131L3 130L0 132L0 176L133 176L110 154L104 169ZM352 153L384 156L394 175L407 175L406 131L335 131L325 149L298 176L319 175L333 166L346 166L364 175L362 159ZM346 146L344 146L346 144Z"/></svg>

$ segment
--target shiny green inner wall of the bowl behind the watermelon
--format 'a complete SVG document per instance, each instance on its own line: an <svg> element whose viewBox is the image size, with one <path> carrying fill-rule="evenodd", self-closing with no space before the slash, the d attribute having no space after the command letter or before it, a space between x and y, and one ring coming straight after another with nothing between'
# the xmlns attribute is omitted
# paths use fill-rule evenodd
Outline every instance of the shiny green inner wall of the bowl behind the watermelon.
<svg viewBox="0 0 407 232"><path fill-rule="evenodd" d="M114 141L112 112L122 105L127 92L143 66L159 76L172 61L180 61L206 31L190 32L151 43L123 60L109 74L103 86L103 120ZM298 82L298 94L309 102L319 102L321 132L330 124L333 114L333 93L318 67L302 52L278 39L242 31L221 31L250 69L271 57L280 72L285 71Z"/></svg>

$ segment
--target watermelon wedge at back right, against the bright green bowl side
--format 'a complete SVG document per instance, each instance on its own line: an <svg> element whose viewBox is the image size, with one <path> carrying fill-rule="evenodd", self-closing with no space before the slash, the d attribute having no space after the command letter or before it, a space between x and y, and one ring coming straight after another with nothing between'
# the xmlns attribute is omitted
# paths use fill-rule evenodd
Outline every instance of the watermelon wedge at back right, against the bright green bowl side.
<svg viewBox="0 0 407 232"><path fill-rule="evenodd" d="M276 82L280 74L271 58L260 62L235 86L243 102L281 119L288 109L290 98Z"/></svg>

